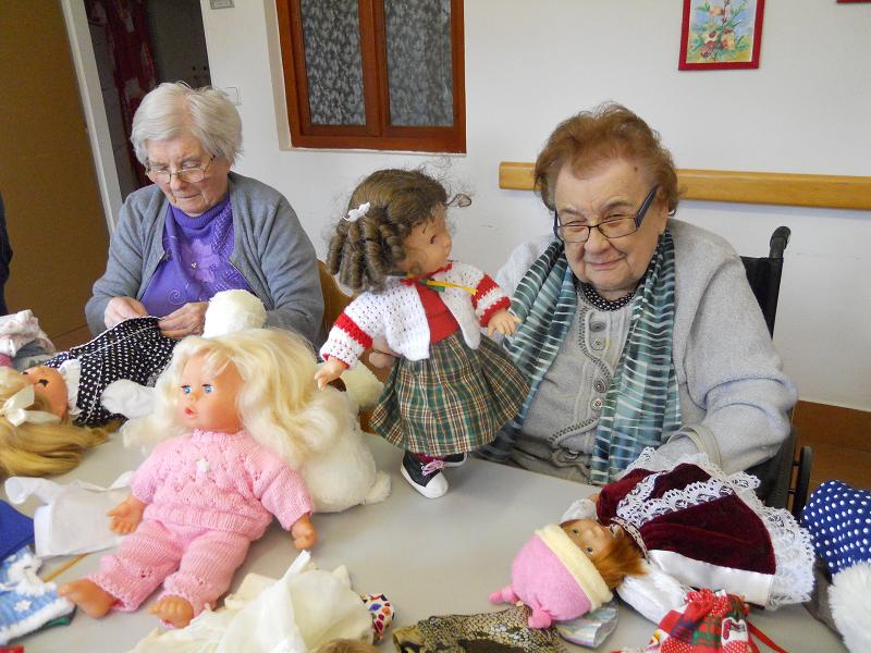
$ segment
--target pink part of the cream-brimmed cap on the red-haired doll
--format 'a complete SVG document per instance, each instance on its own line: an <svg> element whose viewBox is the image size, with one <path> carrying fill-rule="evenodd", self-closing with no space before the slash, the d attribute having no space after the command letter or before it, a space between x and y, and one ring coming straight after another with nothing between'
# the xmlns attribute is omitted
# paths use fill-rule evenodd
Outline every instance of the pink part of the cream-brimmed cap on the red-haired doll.
<svg viewBox="0 0 871 653"><path fill-rule="evenodd" d="M517 599L532 609L531 628L548 628L552 621L574 619L590 611L590 600L541 538L524 544L511 568L511 586L494 592L493 603Z"/></svg>

